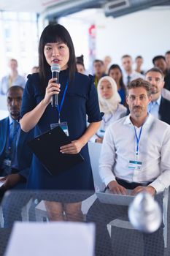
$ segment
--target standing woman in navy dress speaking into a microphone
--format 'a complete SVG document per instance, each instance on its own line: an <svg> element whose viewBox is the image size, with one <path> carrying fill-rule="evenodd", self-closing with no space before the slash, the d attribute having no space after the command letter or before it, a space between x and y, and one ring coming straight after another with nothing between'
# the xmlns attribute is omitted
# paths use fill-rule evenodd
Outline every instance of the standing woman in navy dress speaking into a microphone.
<svg viewBox="0 0 170 256"><path fill-rule="evenodd" d="M59 83L51 78L52 64L61 66ZM80 152L85 161L51 176L34 155L28 189L93 189L87 142L100 126L101 113L92 78L75 70L74 45L69 32L60 24L47 26L39 41L39 73L28 75L23 94L21 128L28 132L35 127L37 136L47 132L50 124L66 121L72 143L62 146L61 152ZM54 94L58 94L59 112L51 106Z"/></svg>

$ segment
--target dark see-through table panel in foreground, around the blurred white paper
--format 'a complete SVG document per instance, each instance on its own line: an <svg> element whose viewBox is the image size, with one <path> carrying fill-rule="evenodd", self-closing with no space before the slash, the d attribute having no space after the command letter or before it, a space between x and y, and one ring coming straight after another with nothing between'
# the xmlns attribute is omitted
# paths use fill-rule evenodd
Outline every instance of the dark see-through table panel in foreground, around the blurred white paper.
<svg viewBox="0 0 170 256"><path fill-rule="evenodd" d="M0 206L0 255L4 255L15 221L94 222L96 256L170 255L169 208L166 245L163 225L155 233L142 233L129 222L128 206L101 203L93 191L6 192Z"/></svg>

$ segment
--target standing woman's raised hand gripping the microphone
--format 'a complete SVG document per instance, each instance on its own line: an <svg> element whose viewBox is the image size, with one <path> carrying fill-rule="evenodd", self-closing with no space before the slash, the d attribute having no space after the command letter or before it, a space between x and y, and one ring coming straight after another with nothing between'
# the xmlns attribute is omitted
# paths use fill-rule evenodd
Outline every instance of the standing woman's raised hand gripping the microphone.
<svg viewBox="0 0 170 256"><path fill-rule="evenodd" d="M59 94L61 85L59 83L55 83L57 78L51 78L48 82L48 86L45 90L45 98L43 99L43 102L45 105L48 105L51 101L51 97L54 94Z"/></svg>

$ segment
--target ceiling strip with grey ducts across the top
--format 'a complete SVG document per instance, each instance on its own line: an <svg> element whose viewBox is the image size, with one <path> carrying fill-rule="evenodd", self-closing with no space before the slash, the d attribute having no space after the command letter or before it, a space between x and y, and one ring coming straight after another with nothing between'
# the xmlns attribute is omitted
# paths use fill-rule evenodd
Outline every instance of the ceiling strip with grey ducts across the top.
<svg viewBox="0 0 170 256"><path fill-rule="evenodd" d="M122 7L123 2L128 4ZM116 4L121 8L112 8L107 12L105 4L111 4L112 7ZM43 12L47 18L58 18L87 8L103 8L106 16L118 17L160 4L169 5L170 0L0 0L0 10Z"/></svg>

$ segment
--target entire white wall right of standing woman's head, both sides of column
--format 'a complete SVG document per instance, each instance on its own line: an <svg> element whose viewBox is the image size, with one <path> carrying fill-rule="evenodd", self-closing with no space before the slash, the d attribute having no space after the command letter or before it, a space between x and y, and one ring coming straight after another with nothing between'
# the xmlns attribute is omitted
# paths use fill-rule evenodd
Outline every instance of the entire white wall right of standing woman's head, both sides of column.
<svg viewBox="0 0 170 256"><path fill-rule="evenodd" d="M97 59L110 55L112 63L121 64L123 54L142 55L144 69L149 69L155 55L170 50L169 17L169 7L154 7L119 18L106 18L103 10L85 10L59 21L69 30L77 55L88 54L87 26L95 23Z"/></svg>

